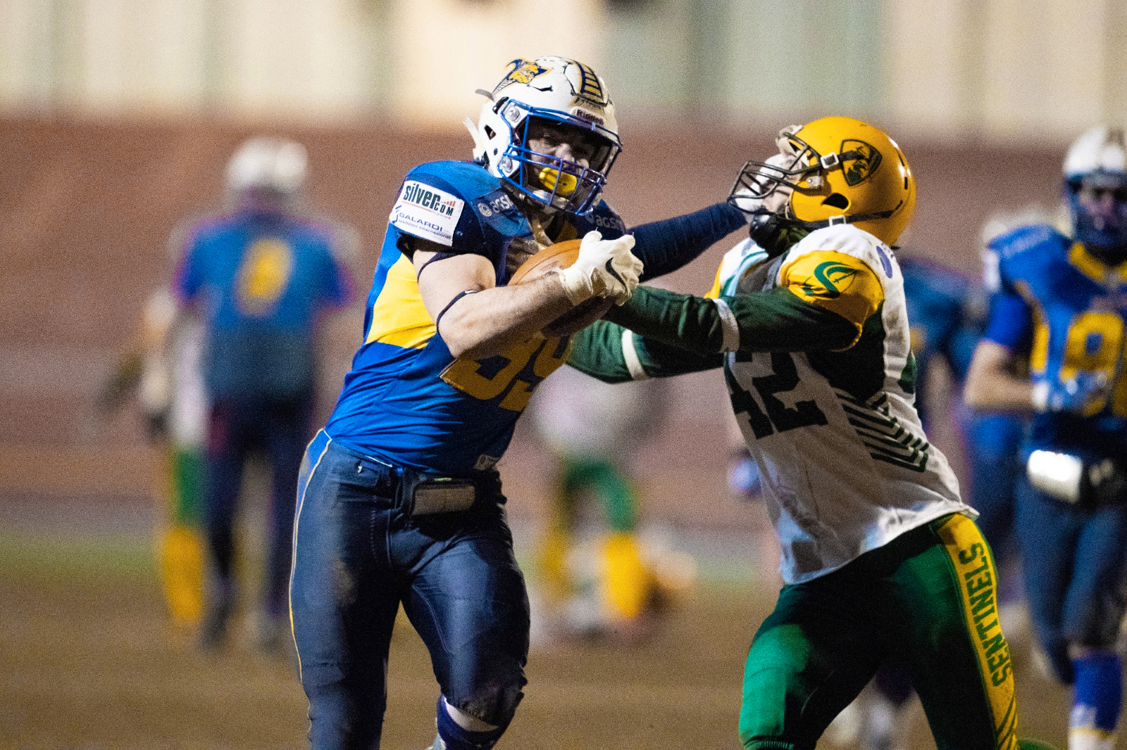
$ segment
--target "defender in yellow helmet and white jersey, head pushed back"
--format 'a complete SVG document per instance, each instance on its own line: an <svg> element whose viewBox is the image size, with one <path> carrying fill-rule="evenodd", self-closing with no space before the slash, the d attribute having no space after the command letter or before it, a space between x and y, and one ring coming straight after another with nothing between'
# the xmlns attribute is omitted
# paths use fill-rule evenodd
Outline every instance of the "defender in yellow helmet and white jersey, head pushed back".
<svg viewBox="0 0 1127 750"><path fill-rule="evenodd" d="M912 676L940 750L1018 747L990 548L913 404L890 249L912 171L885 133L846 117L778 143L733 189L751 240L712 292L638 287L569 363L612 382L724 367L786 581L747 657L747 750L811 750L886 659Z"/></svg>

